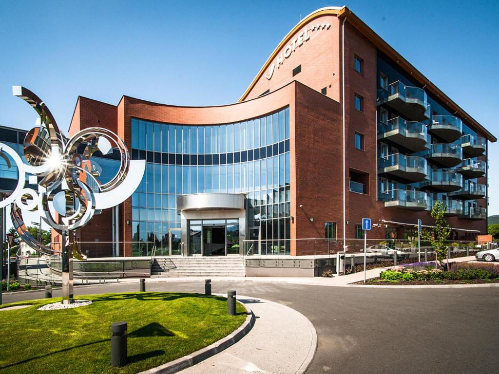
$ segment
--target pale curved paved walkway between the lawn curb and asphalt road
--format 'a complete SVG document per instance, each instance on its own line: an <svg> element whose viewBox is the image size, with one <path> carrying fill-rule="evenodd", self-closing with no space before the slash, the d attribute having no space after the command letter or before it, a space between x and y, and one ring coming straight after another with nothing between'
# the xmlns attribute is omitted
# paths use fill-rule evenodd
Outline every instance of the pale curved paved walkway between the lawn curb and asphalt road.
<svg viewBox="0 0 499 374"><path fill-rule="evenodd" d="M264 299L239 296L253 311L250 333L218 355L182 374L304 373L317 347L317 335L301 313Z"/></svg>

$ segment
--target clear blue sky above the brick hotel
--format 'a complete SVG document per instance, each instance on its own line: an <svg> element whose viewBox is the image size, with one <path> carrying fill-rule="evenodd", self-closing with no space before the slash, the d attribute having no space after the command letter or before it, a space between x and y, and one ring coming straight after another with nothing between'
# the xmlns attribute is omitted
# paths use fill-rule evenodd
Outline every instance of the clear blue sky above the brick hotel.
<svg viewBox="0 0 499 374"><path fill-rule="evenodd" d="M1 1L0 125L35 114L23 85L67 130L78 95L177 105L236 102L282 37L323 1ZM349 1L374 31L499 136L499 2ZM499 214L499 144L490 145Z"/></svg>

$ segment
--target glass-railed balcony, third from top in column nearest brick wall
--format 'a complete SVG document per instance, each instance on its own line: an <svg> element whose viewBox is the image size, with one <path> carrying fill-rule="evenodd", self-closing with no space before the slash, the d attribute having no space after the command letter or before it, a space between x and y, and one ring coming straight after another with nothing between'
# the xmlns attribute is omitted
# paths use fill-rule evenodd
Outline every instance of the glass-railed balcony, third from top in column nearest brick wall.
<svg viewBox="0 0 499 374"><path fill-rule="evenodd" d="M401 182L421 182L427 178L427 166L423 157L396 153L378 160L378 173Z"/></svg>

